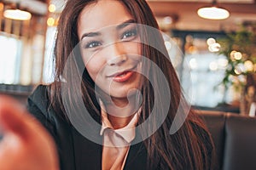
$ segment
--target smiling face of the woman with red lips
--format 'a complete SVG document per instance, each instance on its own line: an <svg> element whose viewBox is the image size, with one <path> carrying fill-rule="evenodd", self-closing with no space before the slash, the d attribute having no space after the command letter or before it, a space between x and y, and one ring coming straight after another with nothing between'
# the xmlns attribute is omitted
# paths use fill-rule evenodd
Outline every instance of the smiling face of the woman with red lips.
<svg viewBox="0 0 256 170"><path fill-rule="evenodd" d="M141 45L137 25L118 0L86 6L79 15L80 51L90 77L112 98L141 89Z"/></svg>

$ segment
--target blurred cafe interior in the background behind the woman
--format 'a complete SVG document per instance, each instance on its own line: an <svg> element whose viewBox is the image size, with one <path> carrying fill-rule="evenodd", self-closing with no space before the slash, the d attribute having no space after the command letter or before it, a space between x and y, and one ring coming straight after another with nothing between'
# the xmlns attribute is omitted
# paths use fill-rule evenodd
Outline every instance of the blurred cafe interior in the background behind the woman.
<svg viewBox="0 0 256 170"><path fill-rule="evenodd" d="M202 114L218 169L256 169L256 0L148 0L189 104ZM53 81L65 0L0 0L0 94L26 105Z"/></svg>

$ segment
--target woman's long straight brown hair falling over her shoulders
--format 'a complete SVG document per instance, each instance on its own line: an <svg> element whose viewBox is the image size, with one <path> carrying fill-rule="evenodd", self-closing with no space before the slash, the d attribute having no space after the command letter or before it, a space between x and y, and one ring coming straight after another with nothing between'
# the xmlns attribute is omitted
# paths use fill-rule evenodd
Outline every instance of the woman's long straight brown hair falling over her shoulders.
<svg viewBox="0 0 256 170"><path fill-rule="evenodd" d="M55 42L55 82L50 86L49 96L51 105L56 112L63 112L65 116L65 109L61 99L61 79L63 78L64 67L67 62L69 54L73 53L73 48L79 43L77 33L79 14L86 5L96 3L96 0L68 0L66 7L63 9L59 25L57 28L57 38ZM159 29L154 14L148 7L148 3L144 0L119 0L127 8L131 16L134 17L138 24L152 26ZM153 40L150 36L142 37L144 41L154 41L157 47L164 48L164 41L160 34L154 35ZM160 53L147 45L143 45L143 55L147 56L151 61L158 65L164 73L169 84L172 102L169 107L168 115L160 128L143 142L148 150L148 168L157 169L210 169L212 159L212 139L207 133L206 127L201 123L201 120L195 116L192 111L189 111L189 116L186 118L183 126L170 135L169 130L176 116L178 105L185 103L183 98L181 85L178 81L176 71L169 59L166 59L165 54ZM166 49L161 49L167 54ZM73 64L75 65L75 63ZM72 66L69 68L71 77L76 71ZM144 68L148 69L148 68ZM142 114L139 123L145 122L148 114L154 107L154 94L162 94L160 89L160 81L154 73L149 69L148 72L153 77L152 82L145 81L143 83L143 105ZM72 82L72 80L71 80ZM77 82L73 82L77 83ZM151 85L150 85L151 83ZM84 70L83 80L81 82L82 95L84 103L91 116L99 118L100 109L96 102L96 97L93 92L94 82L91 80L88 72ZM152 88L154 87L154 89ZM63 90L63 89L62 89ZM154 93L154 91L156 91ZM77 92L81 93L80 91ZM76 103L76 94L71 94L67 88L67 94L73 105ZM162 108L157 108L157 114L161 114ZM67 119L68 117L65 116ZM157 120L155 120L157 121ZM154 120L153 120L154 122ZM151 125L154 127L154 124ZM142 134L147 133L148 128L142 127L140 131Z"/></svg>

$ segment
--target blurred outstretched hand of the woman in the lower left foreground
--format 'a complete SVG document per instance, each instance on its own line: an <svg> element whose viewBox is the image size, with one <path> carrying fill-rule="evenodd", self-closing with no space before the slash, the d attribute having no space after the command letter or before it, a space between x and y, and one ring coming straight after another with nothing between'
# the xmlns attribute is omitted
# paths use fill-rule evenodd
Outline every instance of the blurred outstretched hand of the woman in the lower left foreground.
<svg viewBox="0 0 256 170"><path fill-rule="evenodd" d="M0 169L58 170L55 143L15 99L0 96Z"/></svg>

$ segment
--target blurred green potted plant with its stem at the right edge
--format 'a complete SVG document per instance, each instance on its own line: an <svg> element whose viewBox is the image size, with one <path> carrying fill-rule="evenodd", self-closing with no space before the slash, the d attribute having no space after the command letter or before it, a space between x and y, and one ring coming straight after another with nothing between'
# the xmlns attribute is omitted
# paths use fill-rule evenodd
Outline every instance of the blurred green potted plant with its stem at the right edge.
<svg viewBox="0 0 256 170"><path fill-rule="evenodd" d="M221 46L219 54L228 59L222 81L225 93L233 88L240 95L241 114L248 114L256 97L256 79L252 79L256 75L256 24L227 33L218 43Z"/></svg>

